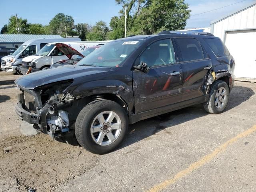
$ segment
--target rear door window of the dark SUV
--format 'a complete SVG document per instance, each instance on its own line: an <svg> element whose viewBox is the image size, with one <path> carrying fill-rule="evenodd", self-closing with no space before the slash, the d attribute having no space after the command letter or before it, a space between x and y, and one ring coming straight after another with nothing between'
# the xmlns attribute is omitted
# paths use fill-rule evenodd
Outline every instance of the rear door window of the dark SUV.
<svg viewBox="0 0 256 192"><path fill-rule="evenodd" d="M176 38L183 61L203 59L204 54L198 40L194 38Z"/></svg>

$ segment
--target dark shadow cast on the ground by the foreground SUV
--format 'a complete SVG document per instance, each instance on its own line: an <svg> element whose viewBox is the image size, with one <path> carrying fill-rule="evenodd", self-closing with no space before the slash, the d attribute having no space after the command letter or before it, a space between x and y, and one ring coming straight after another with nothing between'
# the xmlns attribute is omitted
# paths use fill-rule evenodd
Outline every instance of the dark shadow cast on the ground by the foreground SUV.
<svg viewBox="0 0 256 192"><path fill-rule="evenodd" d="M254 94L251 88L234 86L225 111L242 104ZM139 121L129 125L124 142L117 150L148 138L160 131L172 134L165 129L206 115L208 113L204 110L203 105L199 104Z"/></svg>

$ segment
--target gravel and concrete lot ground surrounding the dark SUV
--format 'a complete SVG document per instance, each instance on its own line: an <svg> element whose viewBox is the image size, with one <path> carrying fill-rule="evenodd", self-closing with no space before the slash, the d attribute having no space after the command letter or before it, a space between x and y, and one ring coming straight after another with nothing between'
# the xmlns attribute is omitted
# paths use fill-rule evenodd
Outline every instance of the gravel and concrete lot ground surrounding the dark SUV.
<svg viewBox="0 0 256 192"><path fill-rule="evenodd" d="M254 126L255 92L255 83L236 82L222 114L207 114L198 105L137 122L129 126L120 148L100 156L44 134L21 135L16 87L0 85L0 191L150 190ZM161 190L256 191L255 136L239 138Z"/></svg>

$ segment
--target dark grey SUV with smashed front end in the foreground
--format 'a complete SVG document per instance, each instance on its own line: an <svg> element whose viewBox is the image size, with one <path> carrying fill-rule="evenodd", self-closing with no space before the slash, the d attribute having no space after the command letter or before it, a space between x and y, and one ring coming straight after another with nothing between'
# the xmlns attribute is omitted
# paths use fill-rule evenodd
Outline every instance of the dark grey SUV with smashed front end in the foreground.
<svg viewBox="0 0 256 192"><path fill-rule="evenodd" d="M120 145L128 124L200 103L206 112L223 112L234 68L226 46L210 33L132 36L75 66L18 78L16 113L53 138L74 130L81 146L105 154Z"/></svg>

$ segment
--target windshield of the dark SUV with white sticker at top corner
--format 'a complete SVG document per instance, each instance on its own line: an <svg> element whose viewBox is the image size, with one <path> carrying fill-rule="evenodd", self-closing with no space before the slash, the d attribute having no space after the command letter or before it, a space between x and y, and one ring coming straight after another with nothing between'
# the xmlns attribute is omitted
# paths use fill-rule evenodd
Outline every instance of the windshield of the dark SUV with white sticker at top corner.
<svg viewBox="0 0 256 192"><path fill-rule="evenodd" d="M141 42L142 40L109 42L80 60L77 65L92 65L98 67L114 67L120 65L138 48Z"/></svg>

